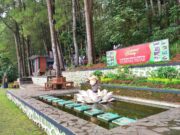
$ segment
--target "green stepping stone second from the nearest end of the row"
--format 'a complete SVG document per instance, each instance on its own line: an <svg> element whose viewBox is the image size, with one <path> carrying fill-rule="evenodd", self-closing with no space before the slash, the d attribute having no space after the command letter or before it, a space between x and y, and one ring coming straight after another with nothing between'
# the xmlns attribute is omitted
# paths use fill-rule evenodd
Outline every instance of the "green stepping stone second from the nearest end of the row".
<svg viewBox="0 0 180 135"><path fill-rule="evenodd" d="M114 114L114 113L105 113L105 114L100 114L97 116L98 119L105 121L105 122L109 122L115 119L120 118L121 116L119 116L118 114Z"/></svg>

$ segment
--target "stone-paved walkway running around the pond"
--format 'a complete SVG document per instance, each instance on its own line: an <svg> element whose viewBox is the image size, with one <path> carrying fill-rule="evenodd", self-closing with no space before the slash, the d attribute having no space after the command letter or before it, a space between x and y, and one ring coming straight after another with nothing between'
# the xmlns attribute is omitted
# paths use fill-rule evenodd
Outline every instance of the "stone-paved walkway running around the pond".
<svg viewBox="0 0 180 135"><path fill-rule="evenodd" d="M128 126L107 130L33 98L43 94L63 94L78 90L44 91L35 85L23 87L24 89L14 90L12 93L77 135L180 135L180 108L138 120Z"/></svg>

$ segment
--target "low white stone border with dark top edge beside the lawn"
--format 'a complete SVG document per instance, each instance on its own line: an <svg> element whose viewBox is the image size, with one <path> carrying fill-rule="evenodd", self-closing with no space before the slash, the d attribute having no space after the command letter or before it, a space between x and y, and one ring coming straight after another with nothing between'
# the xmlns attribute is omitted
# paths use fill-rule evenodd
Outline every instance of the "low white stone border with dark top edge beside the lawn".
<svg viewBox="0 0 180 135"><path fill-rule="evenodd" d="M9 91L7 92L7 97L9 100L14 102L28 116L29 119L40 125L48 135L75 135L70 130L58 124L45 114L39 112L37 109L22 101Z"/></svg>

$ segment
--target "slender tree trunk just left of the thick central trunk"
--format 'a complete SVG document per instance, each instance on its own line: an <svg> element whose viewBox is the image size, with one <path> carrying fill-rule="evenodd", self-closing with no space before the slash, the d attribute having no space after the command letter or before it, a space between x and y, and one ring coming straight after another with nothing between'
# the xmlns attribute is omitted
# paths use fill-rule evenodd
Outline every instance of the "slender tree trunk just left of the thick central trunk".
<svg viewBox="0 0 180 135"><path fill-rule="evenodd" d="M75 66L79 65L79 49L77 45L77 39L76 39L76 0L72 0L72 17L73 17L73 25L72 25L72 31L73 31L73 43L74 43L74 49L75 49Z"/></svg>

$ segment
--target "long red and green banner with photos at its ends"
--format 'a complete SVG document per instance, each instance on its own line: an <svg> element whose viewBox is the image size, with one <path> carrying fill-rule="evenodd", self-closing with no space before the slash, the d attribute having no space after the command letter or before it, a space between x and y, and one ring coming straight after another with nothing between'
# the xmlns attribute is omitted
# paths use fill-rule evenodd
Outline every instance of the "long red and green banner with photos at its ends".
<svg viewBox="0 0 180 135"><path fill-rule="evenodd" d="M169 60L169 40L140 44L106 52L107 65L115 66Z"/></svg>

